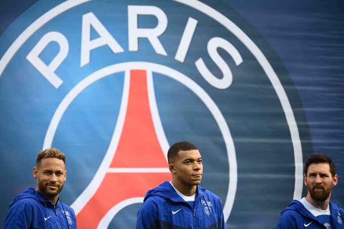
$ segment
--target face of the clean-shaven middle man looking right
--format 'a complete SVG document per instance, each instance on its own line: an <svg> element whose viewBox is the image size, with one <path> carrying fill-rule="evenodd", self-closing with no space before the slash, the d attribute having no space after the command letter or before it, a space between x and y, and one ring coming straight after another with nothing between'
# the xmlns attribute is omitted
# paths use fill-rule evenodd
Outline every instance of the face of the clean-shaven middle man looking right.
<svg viewBox="0 0 344 229"><path fill-rule="evenodd" d="M202 157L198 150L180 151L173 163L177 182L187 186L199 185L203 174ZM175 182L174 181L174 182Z"/></svg>

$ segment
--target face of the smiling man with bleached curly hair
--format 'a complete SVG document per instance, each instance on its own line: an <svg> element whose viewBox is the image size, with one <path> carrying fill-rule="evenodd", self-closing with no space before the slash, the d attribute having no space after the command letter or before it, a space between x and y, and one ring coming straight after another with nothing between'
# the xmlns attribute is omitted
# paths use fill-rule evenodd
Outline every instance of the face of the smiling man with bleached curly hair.
<svg viewBox="0 0 344 229"><path fill-rule="evenodd" d="M56 203L66 181L66 166L60 159L45 158L33 168L33 177L37 179L37 192Z"/></svg>

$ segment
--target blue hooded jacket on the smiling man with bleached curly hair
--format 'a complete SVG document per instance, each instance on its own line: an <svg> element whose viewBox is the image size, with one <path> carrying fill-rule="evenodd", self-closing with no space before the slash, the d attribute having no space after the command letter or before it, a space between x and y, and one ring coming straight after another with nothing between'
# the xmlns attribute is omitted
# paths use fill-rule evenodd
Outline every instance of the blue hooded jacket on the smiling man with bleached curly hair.
<svg viewBox="0 0 344 229"><path fill-rule="evenodd" d="M56 206L33 188L26 189L9 205L3 229L76 229L74 210L59 199Z"/></svg>

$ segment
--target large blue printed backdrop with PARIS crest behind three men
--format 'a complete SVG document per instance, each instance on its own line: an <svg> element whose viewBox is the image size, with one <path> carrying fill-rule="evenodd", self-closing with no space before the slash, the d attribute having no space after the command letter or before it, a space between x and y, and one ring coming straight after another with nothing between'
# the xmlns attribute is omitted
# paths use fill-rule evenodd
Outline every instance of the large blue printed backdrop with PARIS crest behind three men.
<svg viewBox="0 0 344 229"><path fill-rule="evenodd" d="M0 6L1 225L48 147L67 156L78 228L135 228L185 140L229 228L275 228L315 153L336 163L344 205L342 1Z"/></svg>

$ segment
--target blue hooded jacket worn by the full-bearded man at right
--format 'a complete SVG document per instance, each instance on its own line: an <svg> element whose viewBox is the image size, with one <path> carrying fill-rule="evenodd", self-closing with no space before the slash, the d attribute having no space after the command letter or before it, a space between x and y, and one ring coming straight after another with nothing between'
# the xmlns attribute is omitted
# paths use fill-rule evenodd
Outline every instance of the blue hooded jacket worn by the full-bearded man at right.
<svg viewBox="0 0 344 229"><path fill-rule="evenodd" d="M344 210L339 205L330 202L332 217L332 229L344 229ZM315 217L305 206L293 200L290 205L281 212L277 229L326 229L317 217Z"/></svg>

